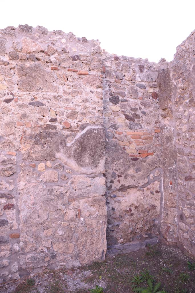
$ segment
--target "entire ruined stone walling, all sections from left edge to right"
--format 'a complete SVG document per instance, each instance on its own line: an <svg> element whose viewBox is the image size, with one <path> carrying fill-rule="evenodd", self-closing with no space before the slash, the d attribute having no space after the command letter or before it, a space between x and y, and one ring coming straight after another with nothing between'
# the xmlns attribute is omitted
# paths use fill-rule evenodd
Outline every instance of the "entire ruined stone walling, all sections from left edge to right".
<svg viewBox="0 0 195 293"><path fill-rule="evenodd" d="M156 64L0 30L1 281L159 239L195 257L193 44Z"/></svg>

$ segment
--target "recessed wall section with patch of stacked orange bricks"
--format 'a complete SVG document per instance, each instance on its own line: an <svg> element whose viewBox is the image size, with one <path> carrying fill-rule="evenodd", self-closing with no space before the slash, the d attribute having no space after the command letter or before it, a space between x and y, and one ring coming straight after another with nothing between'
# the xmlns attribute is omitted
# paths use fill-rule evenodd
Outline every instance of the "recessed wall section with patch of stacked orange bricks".
<svg viewBox="0 0 195 293"><path fill-rule="evenodd" d="M159 236L161 130L157 64L105 54L108 244Z"/></svg>

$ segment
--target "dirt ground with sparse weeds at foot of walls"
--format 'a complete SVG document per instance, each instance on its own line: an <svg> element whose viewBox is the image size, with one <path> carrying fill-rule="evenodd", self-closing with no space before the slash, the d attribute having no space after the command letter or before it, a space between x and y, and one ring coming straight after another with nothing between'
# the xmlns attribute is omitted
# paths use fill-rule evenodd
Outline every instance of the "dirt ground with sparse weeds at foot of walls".
<svg viewBox="0 0 195 293"><path fill-rule="evenodd" d="M148 246L139 251L107 256L102 263L71 270L46 270L19 281L0 284L1 293L88 293L99 285L105 293L133 293L134 276L149 270L160 290L168 293L195 293L195 270L178 248L165 245ZM191 260L193 263L193 261ZM138 287L147 287L143 280Z"/></svg>

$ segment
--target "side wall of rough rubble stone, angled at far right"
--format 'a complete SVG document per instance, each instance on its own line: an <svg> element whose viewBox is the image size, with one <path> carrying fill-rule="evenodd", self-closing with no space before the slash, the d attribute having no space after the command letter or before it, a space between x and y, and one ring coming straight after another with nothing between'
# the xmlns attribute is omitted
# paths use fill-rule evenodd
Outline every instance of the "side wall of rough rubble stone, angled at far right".
<svg viewBox="0 0 195 293"><path fill-rule="evenodd" d="M170 64L177 154L177 244L195 257L195 33Z"/></svg>

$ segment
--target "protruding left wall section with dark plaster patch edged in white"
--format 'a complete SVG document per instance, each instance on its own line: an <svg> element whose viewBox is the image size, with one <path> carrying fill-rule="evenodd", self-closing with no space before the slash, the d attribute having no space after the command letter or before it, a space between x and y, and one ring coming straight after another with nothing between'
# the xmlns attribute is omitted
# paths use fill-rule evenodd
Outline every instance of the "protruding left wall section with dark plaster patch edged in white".
<svg viewBox="0 0 195 293"><path fill-rule="evenodd" d="M22 25L0 54L1 280L104 259L98 41Z"/></svg>

